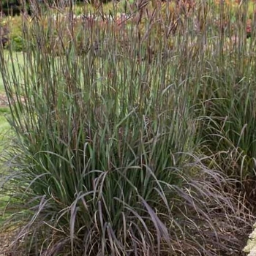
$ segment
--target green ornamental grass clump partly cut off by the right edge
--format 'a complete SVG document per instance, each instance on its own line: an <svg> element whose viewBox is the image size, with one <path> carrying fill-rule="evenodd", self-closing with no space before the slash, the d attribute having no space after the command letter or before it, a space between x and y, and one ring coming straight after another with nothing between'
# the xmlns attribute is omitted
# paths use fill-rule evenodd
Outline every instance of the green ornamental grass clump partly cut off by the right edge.
<svg viewBox="0 0 256 256"><path fill-rule="evenodd" d="M246 197L246 205L255 211L255 39L247 38L246 15L245 4L236 13L230 47L225 48L222 60L211 57L214 65L202 78L203 88L208 89L203 92L201 135L203 151L214 156L211 166L237 181L233 193ZM218 48L219 42L214 45Z"/></svg>

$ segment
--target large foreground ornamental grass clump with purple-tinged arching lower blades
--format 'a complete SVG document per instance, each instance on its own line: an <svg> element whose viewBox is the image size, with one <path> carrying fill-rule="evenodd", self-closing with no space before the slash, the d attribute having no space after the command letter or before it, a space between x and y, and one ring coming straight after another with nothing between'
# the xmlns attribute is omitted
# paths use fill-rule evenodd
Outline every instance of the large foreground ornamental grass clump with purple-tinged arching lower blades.
<svg viewBox="0 0 256 256"><path fill-rule="evenodd" d="M72 6L23 17L22 85L0 50L15 130L1 184L10 196L2 230L16 228L9 251L241 253L243 200L202 146L202 102L215 90L202 81L225 67L222 30L208 34L217 13L205 1L189 13L137 8L145 15L129 26L72 20Z"/></svg>

